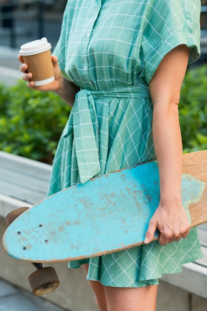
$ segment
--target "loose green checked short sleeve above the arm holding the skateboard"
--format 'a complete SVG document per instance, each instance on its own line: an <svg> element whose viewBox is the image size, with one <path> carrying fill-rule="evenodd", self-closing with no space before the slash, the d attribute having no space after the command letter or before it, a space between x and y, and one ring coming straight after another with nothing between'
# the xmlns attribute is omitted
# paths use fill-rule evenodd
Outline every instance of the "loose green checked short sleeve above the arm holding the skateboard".
<svg viewBox="0 0 207 311"><path fill-rule="evenodd" d="M150 82L161 60L173 48L187 45L189 64L200 57L200 0L149 0L142 26L144 76Z"/></svg>

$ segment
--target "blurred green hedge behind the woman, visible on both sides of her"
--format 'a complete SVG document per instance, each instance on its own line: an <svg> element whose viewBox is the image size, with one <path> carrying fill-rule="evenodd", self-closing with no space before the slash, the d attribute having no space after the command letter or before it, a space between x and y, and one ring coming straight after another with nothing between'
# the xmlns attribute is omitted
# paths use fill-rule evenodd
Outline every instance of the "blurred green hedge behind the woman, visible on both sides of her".
<svg viewBox="0 0 207 311"><path fill-rule="evenodd" d="M52 163L70 107L53 92L0 85L0 150ZM184 152L207 149L207 65L189 69L179 104Z"/></svg>

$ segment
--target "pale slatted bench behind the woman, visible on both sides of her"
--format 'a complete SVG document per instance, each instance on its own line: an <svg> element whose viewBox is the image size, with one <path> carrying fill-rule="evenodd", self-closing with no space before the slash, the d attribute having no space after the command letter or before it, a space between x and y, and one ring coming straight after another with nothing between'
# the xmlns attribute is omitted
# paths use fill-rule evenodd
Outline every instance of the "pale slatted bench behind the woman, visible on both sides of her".
<svg viewBox="0 0 207 311"><path fill-rule="evenodd" d="M49 164L0 152L0 217L16 207L31 207L44 199L50 173ZM162 281L207 299L207 224L198 231L204 258L185 264L182 273L164 275Z"/></svg>

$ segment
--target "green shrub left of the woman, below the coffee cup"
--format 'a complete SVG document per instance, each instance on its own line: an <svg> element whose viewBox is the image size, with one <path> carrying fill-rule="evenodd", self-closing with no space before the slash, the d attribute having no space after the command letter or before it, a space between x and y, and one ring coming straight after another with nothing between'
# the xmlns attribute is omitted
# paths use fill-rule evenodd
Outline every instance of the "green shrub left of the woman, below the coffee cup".
<svg viewBox="0 0 207 311"><path fill-rule="evenodd" d="M0 150L52 163L69 106L53 92L0 85Z"/></svg>

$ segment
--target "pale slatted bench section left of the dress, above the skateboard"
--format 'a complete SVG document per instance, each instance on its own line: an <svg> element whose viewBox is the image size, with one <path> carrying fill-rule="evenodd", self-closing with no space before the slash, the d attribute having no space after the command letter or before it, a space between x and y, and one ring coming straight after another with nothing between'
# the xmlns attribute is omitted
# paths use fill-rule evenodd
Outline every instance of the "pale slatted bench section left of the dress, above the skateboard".
<svg viewBox="0 0 207 311"><path fill-rule="evenodd" d="M14 207L31 207L44 199L51 165L0 152L0 216Z"/></svg>

